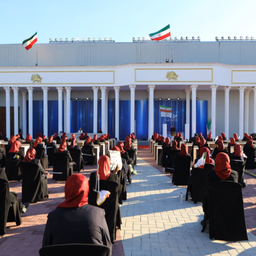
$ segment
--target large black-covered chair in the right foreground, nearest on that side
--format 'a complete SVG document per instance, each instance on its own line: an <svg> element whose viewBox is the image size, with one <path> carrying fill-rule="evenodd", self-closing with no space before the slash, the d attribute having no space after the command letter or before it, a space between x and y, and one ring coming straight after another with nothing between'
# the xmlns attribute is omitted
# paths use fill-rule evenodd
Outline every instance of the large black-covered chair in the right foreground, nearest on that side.
<svg viewBox="0 0 256 256"><path fill-rule="evenodd" d="M206 215L209 218L210 239L248 240L241 184L232 181L210 182Z"/></svg>

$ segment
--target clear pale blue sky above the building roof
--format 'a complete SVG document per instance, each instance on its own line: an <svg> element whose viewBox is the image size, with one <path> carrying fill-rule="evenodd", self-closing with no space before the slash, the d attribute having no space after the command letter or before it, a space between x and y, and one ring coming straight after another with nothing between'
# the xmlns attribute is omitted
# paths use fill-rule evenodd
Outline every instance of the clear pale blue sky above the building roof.
<svg viewBox="0 0 256 256"><path fill-rule="evenodd" d="M168 24L178 38L256 39L256 0L9 0L0 8L0 44L21 44L36 31L38 44L66 37L131 42Z"/></svg>

